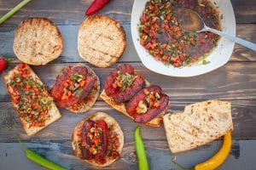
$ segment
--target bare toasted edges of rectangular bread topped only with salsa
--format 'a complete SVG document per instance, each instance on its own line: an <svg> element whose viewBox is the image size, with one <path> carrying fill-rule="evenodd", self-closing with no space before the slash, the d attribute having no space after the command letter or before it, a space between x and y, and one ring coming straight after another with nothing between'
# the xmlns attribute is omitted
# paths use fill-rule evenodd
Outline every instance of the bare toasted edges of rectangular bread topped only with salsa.
<svg viewBox="0 0 256 170"><path fill-rule="evenodd" d="M18 67L19 65L16 65L15 68L13 68L12 70L10 70L6 75L4 75L4 81L7 87L7 91L10 95L10 99L15 107L15 111L17 112L17 114L19 115L19 106L15 104L15 99L12 96L13 93L13 89L9 86L9 82L10 82L10 77L13 75L14 72L19 72L18 71ZM35 74L34 71L32 71L32 69L29 67L29 65L26 65L26 67L28 69L30 69L31 71L31 75L32 77L40 84L43 84L43 82L41 82L41 80L39 79L39 77ZM49 94L48 94L49 95ZM53 99L49 96L49 99L51 100L51 109L49 110L49 115L51 116L48 120L46 120L45 122L45 126L47 127L50 123L55 122L56 120L58 120L59 118L61 118L61 113L60 111L57 109ZM21 126L24 128L26 134L28 136L31 136L32 134L38 133L40 130L42 130L44 127L29 127L28 123L26 123L26 121L19 116L20 119L20 123Z"/></svg>

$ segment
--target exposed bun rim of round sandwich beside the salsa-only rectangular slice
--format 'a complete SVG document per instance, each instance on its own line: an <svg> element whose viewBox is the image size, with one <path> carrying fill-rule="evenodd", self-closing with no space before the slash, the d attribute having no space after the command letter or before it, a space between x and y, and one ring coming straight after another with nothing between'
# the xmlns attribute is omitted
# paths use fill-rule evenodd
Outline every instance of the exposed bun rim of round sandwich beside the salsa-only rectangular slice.
<svg viewBox="0 0 256 170"><path fill-rule="evenodd" d="M83 104L78 105L78 110L73 110L73 106L66 107L66 109L68 111L72 111L74 113L84 113L86 111L89 111L90 108L93 105L95 105L96 99L98 99L98 97L99 97L99 94L100 94L100 80L99 80L99 77L96 76L96 73L88 65L78 63L78 64L73 65L72 67L76 67L76 66L86 67L87 70L88 70L89 75L92 76L92 77L95 77L95 79L96 79L96 82L94 83L94 88L92 88L90 90L90 94L88 95L88 96L90 96L90 99L91 99L90 102L87 102L88 98L86 97L82 102ZM65 68L61 71L61 73L58 75L58 77L61 77L64 70L65 70Z"/></svg>

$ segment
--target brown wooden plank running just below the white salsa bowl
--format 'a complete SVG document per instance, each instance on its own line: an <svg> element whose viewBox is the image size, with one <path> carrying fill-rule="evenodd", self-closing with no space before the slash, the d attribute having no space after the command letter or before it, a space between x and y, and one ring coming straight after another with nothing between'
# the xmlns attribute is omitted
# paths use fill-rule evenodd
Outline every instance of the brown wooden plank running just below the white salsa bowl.
<svg viewBox="0 0 256 170"><path fill-rule="evenodd" d="M46 86L51 88L61 69L71 64L32 66ZM148 71L141 63L132 63L149 82L160 85L171 99L256 99L256 65L254 62L231 62L216 71L198 77L166 77ZM14 65L10 65L9 69ZM103 86L111 68L91 66ZM113 65L116 67L116 65ZM6 70L9 71L9 70ZM6 72L5 71L5 72ZM3 75L0 75L0 101L9 101Z"/></svg>

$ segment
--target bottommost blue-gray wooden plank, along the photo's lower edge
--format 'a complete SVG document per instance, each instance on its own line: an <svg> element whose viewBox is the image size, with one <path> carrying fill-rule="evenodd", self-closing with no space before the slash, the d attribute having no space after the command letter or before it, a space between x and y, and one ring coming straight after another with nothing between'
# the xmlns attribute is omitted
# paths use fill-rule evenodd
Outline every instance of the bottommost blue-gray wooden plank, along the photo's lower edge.
<svg viewBox="0 0 256 170"><path fill-rule="evenodd" d="M210 144L190 150L187 152L172 154L168 149L166 141L149 141L144 139L148 153L150 169L157 170L177 170L172 164L172 156L177 156L177 161L183 166L193 167L195 164L205 161L216 153L222 144L222 141L214 141ZM73 150L70 141L47 142L32 141L25 143L32 150L38 151L51 161L55 161L69 169L99 169L80 161L73 156ZM218 170L253 170L255 169L254 154L256 152L256 140L233 140L230 156L224 161L224 164ZM14 163L15 161L15 163ZM23 150L17 143L0 143L0 167L3 169L44 169L32 161L28 160ZM121 157L110 167L100 169L137 169L137 156L134 148L134 142L125 143Z"/></svg>

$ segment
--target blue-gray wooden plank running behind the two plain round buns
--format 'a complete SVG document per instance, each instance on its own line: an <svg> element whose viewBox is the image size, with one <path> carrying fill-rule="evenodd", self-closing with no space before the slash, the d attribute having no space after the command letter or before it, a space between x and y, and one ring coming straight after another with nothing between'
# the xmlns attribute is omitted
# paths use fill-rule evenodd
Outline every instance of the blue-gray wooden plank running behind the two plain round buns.
<svg viewBox="0 0 256 170"><path fill-rule="evenodd" d="M78 54L77 49L77 37L79 26L59 26L61 34L64 37L64 50L61 57L55 59L53 63L62 62L82 62ZM131 28L130 25L124 25L127 38L127 46L125 48L125 54L119 59L119 62L137 62L140 59L137 56L136 49L133 46L131 40ZM256 41L256 26L253 24L240 24L236 27L237 37L244 38L248 41ZM15 37L15 27L0 27L0 54L6 58L15 58L13 52L13 41ZM256 61L254 57L256 52L248 48L242 47L241 45L236 45L234 53L232 54L230 61ZM16 59L16 58L15 58ZM14 62L20 62L15 60Z"/></svg>

